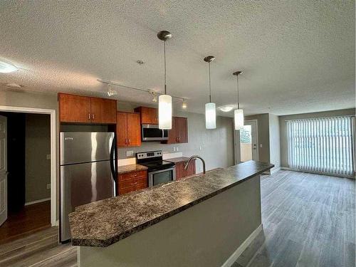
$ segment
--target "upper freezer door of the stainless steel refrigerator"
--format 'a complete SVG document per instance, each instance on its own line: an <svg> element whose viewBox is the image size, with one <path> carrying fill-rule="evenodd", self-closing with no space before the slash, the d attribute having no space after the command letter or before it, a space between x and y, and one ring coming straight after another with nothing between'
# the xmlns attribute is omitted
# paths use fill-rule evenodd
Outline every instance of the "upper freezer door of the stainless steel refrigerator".
<svg viewBox="0 0 356 267"><path fill-rule="evenodd" d="M113 140L113 132L61 132L61 165L110 159Z"/></svg>

